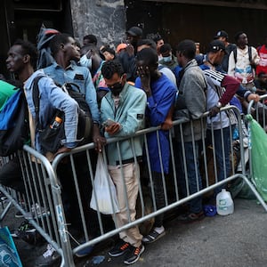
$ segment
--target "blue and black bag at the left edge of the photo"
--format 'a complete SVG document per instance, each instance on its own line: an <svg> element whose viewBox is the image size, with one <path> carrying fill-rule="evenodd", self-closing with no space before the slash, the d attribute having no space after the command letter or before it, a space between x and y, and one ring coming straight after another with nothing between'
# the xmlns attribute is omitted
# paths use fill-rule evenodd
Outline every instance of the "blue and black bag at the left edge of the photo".
<svg viewBox="0 0 267 267"><path fill-rule="evenodd" d="M0 157L7 157L29 141L28 103L21 89L4 104L0 120Z"/></svg>

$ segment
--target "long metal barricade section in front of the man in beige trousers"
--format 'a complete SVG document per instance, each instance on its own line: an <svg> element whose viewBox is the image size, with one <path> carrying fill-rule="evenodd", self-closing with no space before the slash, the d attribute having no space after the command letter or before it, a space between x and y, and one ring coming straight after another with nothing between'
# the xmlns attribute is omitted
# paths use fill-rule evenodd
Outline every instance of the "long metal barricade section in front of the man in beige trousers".
<svg viewBox="0 0 267 267"><path fill-rule="evenodd" d="M218 181L218 174L217 174L217 169L216 169L216 158L213 155L212 156L212 163L213 163L213 174L209 173L208 170L208 166L210 165L210 163L208 162L207 159L207 155L206 155L206 149L201 150L202 155L194 155L195 160L199 157L203 158L203 162L202 162L202 166L203 166L203 181L206 182L206 185L204 188L199 188L198 185L198 191L190 194L190 190L187 190L187 195L182 197L180 195L180 189L179 189L179 185L178 185L178 180L179 180L179 175L176 174L175 171L175 164L176 164L176 155L175 155L175 136L174 136L174 131L169 131L168 133L168 140L169 140L169 144L170 144L170 162L171 162L171 167L170 168L170 173L169 174L165 174L162 170L161 172L161 178L163 180L163 190L164 190L164 197L165 197L165 206L161 207L161 208L157 208L156 205L156 197L155 197L155 192L153 190L153 186L151 186L153 184L153 175L152 175L152 170L151 170L151 166L150 164L148 164L147 166L147 172L146 175L147 177L144 177L143 174L141 175L140 179L139 179L139 211L138 211L138 217L136 218L136 220L134 222L131 222L130 220L130 216L129 216L129 208L127 206L127 210L128 210L128 223L126 223L124 226L118 228L117 227L117 223L116 221L115 223L115 227L113 230L109 230L109 231L105 231L104 229L104 224L105 224L105 219L106 217L102 217L101 213L99 211L97 211L97 219L98 219L98 223L99 223L99 229L100 229L100 233L99 235L93 236L92 232L90 232L90 230L88 231L88 229L90 227L88 227L88 221L86 221L85 218L85 207L82 206L83 200L81 198L80 195L80 188L79 188L79 177L77 175L77 161L75 160L75 155L79 154L79 153L84 153L84 157L86 158L86 162L87 162L87 166L86 168L88 169L88 182L91 182L91 187L93 185L93 165L95 164L95 162L93 163L92 158L90 157L90 154L93 151L93 144L88 144L85 145L83 147L79 147L75 150L72 150L69 154L65 154L65 155L59 155L57 158L55 158L55 160L53 161L53 169L57 170L58 166L61 164L62 160L67 160L69 161L69 163L71 164L71 168L72 168L72 176L73 179L75 181L75 187L76 187L76 193L77 193L77 202L79 204L79 210L80 210L80 216L81 216L81 224L83 227L83 231L84 231L84 235L85 235L85 243L81 244L77 247L73 248L73 253L76 254L78 251L84 249L85 247L89 247L92 246L93 244L99 243L101 241L104 241L106 239L109 239L110 237L116 235L117 233L119 233L120 231L125 231L126 229L129 229L131 227L133 227L134 225L139 225L141 226L142 223L145 222L149 222L151 219L153 219L155 216L157 216L158 214L163 214L166 213L170 210L173 210L175 207L177 206L181 206L182 204L190 201L193 198L197 198L199 196L203 196L204 194L210 192L211 190L214 190L217 187L223 186L223 184L231 182L237 178L243 179L244 182L247 183L247 185L249 186L249 188L255 193L256 198L259 199L259 201L261 202L261 204L264 206L265 210L266 209L266 205L263 202L263 199L260 197L260 195L257 193L257 191L255 190L254 186L251 184L251 182L247 179L246 176L246 170L245 170L245 158L244 158L244 152L243 152L243 134L242 134L242 121L241 121L241 117L239 114L239 109L236 109L235 107L230 107L230 108L223 108L222 110L227 110L227 109L234 109L234 111L237 114L238 117L238 129L239 129L239 133L240 133L240 138L239 138L239 148L240 148L240 153L239 153L239 163L240 163L240 169L239 169L239 174L236 173L236 169L235 169L235 162L233 160L233 143L234 140L231 138L231 175L230 176L225 176L223 181ZM206 134L205 134L205 127L204 124L206 123L206 117L208 116L208 113L204 114L204 116L202 117L202 137L201 140L199 141L200 144L202 144L202 148L206 148ZM180 119L177 121L174 121L174 128L180 128L182 131L182 124L187 123L188 120L186 119ZM151 133L155 133L157 134L158 137L158 131L159 131L159 127L153 127L153 128L149 128L149 129L144 129L142 131L139 131L138 133L134 134L134 136L128 137L128 138L111 138L108 140L108 144L111 142L116 142L117 144L117 151L118 154L121 153L121 151L119 150L119 144L120 142L123 142L125 139L129 140L129 142L133 142L133 138L136 136L140 136L143 138L144 141L144 151L146 152L147 155L149 155L148 153L148 135ZM232 129L232 128L231 128ZM213 130L213 129L212 129ZM191 131L194 131L193 128L191 128ZM213 132L213 131L212 131ZM232 130L230 130L231 132L231 136L232 136ZM213 144L214 144L214 138L213 139ZM222 140L222 142L224 142ZM158 147L159 146L159 138L158 138ZM182 150L184 150L184 146L182 146ZM214 152L214 148L212 149ZM224 153L224 152L223 152ZM106 150L103 150L103 155L105 158L105 162L107 163L107 154L106 154ZM122 158L122 155L118 155L118 158ZM223 154L223 156L225 156L225 154ZM66 159L69 158L69 159ZM158 151L158 158L160 158L160 165L162 166L162 160L163 158L161 158L161 153L160 150ZM223 157L225 158L225 157ZM134 158L134 162L137 162L138 159L135 157ZM150 160L148 159L148 162L150 162ZM144 162L142 162L143 164ZM120 162L120 165L122 165L122 161ZM225 163L223 163L223 166L225 166ZM185 166L186 168L186 166ZM209 178L209 176L213 175L213 181ZM150 185L148 186L145 190L144 190L144 178L147 179L147 183ZM186 178L188 180L188 177ZM188 183L188 181L186 182ZM150 196L150 213L147 213L147 202L146 200L148 199L148 192L149 192L149 196ZM125 193L125 198L126 198L126 193ZM88 203L87 203L88 205ZM69 222L67 222L68 224ZM151 225L151 223L150 223Z"/></svg>

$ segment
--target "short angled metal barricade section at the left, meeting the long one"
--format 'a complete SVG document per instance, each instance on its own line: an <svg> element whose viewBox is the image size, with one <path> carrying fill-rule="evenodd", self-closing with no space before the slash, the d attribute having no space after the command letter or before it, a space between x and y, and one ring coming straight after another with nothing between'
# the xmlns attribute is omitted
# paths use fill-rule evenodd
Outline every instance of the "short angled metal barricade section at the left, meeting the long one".
<svg viewBox="0 0 267 267"><path fill-rule="evenodd" d="M72 250L67 234L61 187L50 162L27 145L16 156L19 158L23 202L14 198L9 190L0 190L31 223L41 236L61 255L61 266L74 266Z"/></svg>

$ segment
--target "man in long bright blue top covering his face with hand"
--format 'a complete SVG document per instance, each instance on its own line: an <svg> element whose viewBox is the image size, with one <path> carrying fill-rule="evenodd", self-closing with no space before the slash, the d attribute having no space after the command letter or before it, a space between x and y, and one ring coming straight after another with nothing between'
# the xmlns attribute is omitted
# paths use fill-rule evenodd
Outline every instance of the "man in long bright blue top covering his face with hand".
<svg viewBox="0 0 267 267"><path fill-rule="evenodd" d="M156 197L157 210L165 206L164 183L169 173L169 129L172 124L163 129L166 118L174 105L177 93L176 86L158 70L158 53L151 48L143 48L136 55L139 77L136 87L142 88L147 94L146 109L147 126L161 126L162 129L147 135L149 155L146 155L152 171L153 187ZM159 138L159 141L158 141ZM160 145L159 145L160 144ZM150 233L143 237L144 243L152 243L165 234L163 226L164 214L155 218Z"/></svg>

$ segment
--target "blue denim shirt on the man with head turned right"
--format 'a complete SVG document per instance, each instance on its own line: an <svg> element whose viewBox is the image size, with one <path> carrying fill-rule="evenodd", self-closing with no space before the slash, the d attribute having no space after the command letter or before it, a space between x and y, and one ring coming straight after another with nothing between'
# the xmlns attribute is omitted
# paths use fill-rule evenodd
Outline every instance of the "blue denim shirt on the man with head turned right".
<svg viewBox="0 0 267 267"><path fill-rule="evenodd" d="M44 68L44 73L53 78L59 85L64 83L74 83L79 85L81 93L85 93L85 100L91 109L92 118L95 122L100 122L100 112L96 100L96 92L93 86L90 71L71 62L67 69L63 69L56 61L52 65ZM75 89L75 88L74 88Z"/></svg>

